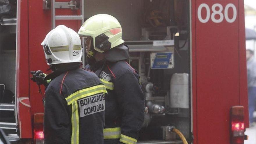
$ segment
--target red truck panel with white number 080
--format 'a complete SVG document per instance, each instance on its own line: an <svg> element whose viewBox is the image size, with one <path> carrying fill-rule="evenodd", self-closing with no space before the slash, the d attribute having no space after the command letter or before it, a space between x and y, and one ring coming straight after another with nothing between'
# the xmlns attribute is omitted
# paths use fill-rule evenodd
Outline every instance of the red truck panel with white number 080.
<svg viewBox="0 0 256 144"><path fill-rule="evenodd" d="M230 108L242 105L247 112L242 7L239 0L192 1L194 143L229 143Z"/></svg>

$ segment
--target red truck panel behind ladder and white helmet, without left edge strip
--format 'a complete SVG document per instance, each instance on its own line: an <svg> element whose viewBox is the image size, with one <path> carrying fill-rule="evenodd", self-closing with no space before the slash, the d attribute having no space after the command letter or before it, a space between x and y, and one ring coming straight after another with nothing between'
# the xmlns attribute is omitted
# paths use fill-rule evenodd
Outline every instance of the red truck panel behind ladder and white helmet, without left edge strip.
<svg viewBox="0 0 256 144"><path fill-rule="evenodd" d="M64 1L64 0L60 0ZM69 0L65 0L69 2ZM49 66L46 64L44 51L41 42L49 31L51 31L51 10L43 10L42 2L29 0L29 70L42 70L45 73ZM77 15L79 10L56 9L56 15ZM64 24L75 31L78 31L77 20L58 20L56 26ZM42 96L38 93L38 86L34 82L30 82L30 103L31 115L34 113L43 113ZM41 86L42 92L45 87Z"/></svg>

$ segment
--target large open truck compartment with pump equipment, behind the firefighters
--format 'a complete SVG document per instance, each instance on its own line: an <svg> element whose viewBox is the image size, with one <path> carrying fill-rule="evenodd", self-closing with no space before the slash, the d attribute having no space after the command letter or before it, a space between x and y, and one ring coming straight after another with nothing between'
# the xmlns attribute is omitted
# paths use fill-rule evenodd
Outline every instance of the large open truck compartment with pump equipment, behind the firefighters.
<svg viewBox="0 0 256 144"><path fill-rule="evenodd" d="M138 143L182 143L173 126L192 142L189 1L85 2L85 19L99 13L118 19L141 76L146 115Z"/></svg>

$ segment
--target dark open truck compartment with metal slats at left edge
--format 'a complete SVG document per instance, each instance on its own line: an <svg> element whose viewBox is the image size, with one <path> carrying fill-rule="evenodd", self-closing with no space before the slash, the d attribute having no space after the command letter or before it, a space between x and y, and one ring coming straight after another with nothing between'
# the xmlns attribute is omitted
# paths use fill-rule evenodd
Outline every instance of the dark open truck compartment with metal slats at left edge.
<svg viewBox="0 0 256 144"><path fill-rule="evenodd" d="M17 136L16 93L16 1L1 3L0 13L0 128ZM9 135L10 134L10 135Z"/></svg>

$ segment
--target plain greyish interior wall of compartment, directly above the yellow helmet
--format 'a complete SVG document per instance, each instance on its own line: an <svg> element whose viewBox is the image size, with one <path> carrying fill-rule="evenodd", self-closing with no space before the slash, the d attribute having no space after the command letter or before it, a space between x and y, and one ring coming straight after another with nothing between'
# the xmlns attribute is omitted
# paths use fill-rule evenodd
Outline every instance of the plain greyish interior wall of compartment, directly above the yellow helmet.
<svg viewBox="0 0 256 144"><path fill-rule="evenodd" d="M85 17L105 13L120 22L124 40L141 38L142 0L85 0Z"/></svg>

